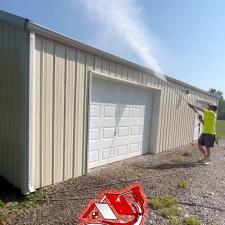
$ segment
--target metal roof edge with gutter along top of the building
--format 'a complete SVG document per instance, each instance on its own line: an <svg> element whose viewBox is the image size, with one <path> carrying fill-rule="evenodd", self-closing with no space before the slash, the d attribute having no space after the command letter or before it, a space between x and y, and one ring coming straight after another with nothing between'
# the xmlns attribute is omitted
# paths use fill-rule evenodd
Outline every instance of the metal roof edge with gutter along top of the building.
<svg viewBox="0 0 225 225"><path fill-rule="evenodd" d="M46 37L53 38L54 40L64 42L68 45L74 46L74 47L79 48L81 50L85 50L89 53L92 53L92 54L95 54L95 55L98 55L98 56L101 56L101 57L105 57L109 60L112 60L112 61L115 61L115 62L118 62L118 63L122 63L122 64L130 66L134 69L137 69L137 70L140 70L142 72L151 74L153 76L155 76L155 74L157 74L155 71L153 71L153 70L151 70L147 67L144 67L142 65L139 65L139 64L136 64L134 62L128 61L126 59L115 56L113 54L107 53L105 51L102 51L100 49L97 49L95 47L87 45L85 43L82 43L80 41L76 41L75 39L73 39L71 37L68 37L68 36L66 36L64 34L61 34L61 33L58 33L58 32L55 32L55 31L53 31L51 29L48 29L44 26L41 26L41 25L39 25L39 24L29 20L29 19L26 19L26 18L23 18L23 17L20 17L20 16L16 16L16 15L13 15L11 13L7 13L5 11L0 10L0 20L4 20L8 23L16 25L19 28L34 31L34 32L36 32L40 35L44 35ZM197 88L197 87L195 87L191 84L179 81L179 80L177 80L175 78L172 78L170 76L166 75L166 79L167 79L167 81L170 81L172 83L177 83L177 84L180 84L180 85L185 86L187 88L196 90L196 91L198 91L200 93L203 93L205 95L217 98L215 95L213 95L213 94L211 94L211 93L209 93L205 90Z"/></svg>

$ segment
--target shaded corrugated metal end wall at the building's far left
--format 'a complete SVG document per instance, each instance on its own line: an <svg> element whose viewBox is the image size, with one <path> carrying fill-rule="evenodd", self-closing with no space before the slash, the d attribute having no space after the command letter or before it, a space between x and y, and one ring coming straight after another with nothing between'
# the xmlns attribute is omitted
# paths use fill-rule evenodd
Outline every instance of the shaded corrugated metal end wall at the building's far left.
<svg viewBox="0 0 225 225"><path fill-rule="evenodd" d="M0 175L21 190L27 177L27 53L27 33L0 21Z"/></svg>

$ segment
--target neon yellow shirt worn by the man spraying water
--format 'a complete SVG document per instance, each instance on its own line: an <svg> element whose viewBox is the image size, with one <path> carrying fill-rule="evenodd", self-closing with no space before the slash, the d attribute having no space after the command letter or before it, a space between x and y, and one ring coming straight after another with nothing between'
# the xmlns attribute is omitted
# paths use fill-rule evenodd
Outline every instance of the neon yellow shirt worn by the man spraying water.
<svg viewBox="0 0 225 225"><path fill-rule="evenodd" d="M204 125L203 125L203 134L216 134L216 113L203 109L204 114Z"/></svg>

